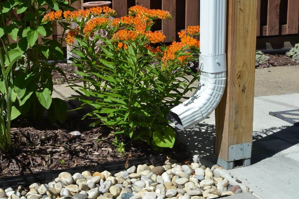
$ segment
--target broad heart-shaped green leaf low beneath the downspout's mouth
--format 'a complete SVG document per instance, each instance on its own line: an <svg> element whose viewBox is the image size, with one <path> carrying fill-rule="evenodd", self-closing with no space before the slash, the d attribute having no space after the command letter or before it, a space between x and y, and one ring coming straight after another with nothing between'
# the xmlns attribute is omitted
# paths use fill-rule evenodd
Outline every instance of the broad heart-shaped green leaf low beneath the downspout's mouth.
<svg viewBox="0 0 299 199"><path fill-rule="evenodd" d="M163 129L161 129L163 130ZM175 142L176 134L173 131L173 128L171 127L165 127L164 129L164 135L160 133L159 131L154 131L152 138L157 144L157 146L160 147L169 147L172 148L173 144Z"/></svg>

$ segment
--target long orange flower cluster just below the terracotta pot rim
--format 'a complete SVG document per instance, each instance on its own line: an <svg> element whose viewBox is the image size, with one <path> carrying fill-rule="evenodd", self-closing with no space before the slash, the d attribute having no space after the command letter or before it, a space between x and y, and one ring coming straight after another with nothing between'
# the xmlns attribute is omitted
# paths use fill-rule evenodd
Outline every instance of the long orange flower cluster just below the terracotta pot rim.
<svg viewBox="0 0 299 199"><path fill-rule="evenodd" d="M78 17L87 18L91 15L93 16L100 16L103 14L103 17L108 18L108 16L115 16L116 11L112 10L109 7L92 7L87 10L76 10L76 11L69 11L66 10L63 12L63 16L66 20L77 20Z"/></svg>

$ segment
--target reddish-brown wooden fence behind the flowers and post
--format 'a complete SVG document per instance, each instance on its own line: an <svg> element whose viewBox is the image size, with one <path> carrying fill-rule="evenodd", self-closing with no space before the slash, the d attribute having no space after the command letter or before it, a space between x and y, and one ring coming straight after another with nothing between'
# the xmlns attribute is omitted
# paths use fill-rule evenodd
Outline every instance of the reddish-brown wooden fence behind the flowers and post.
<svg viewBox="0 0 299 199"><path fill-rule="evenodd" d="M156 20L152 27L152 30L162 31L166 35L164 42L177 41L179 40L177 32L190 25L199 25L200 0L110 1L112 1L112 8L118 13L118 17L126 15L128 8L134 5L169 11L173 16L172 20L165 20L165 22ZM83 0L79 0L72 6L81 9L82 3ZM257 0L257 36L298 34L298 19L299 0ZM53 25L53 38L59 38L61 31L59 24L55 23Z"/></svg>

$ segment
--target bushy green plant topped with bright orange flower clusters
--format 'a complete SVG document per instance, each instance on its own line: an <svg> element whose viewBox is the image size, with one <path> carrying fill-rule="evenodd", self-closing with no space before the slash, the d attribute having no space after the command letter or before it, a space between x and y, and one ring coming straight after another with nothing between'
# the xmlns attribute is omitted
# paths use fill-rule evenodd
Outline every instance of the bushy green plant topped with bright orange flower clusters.
<svg viewBox="0 0 299 199"><path fill-rule="evenodd" d="M192 54L199 53L199 41L193 38L199 27L188 27L187 35L179 33L181 42L152 47L150 43L165 38L150 31L152 20L170 18L168 12L135 6L129 10L130 16L114 20L108 17L116 13L108 8L65 14L78 24L66 40L79 43L72 52L79 57L74 58L74 66L84 85L72 87L83 105L92 107L84 118L96 119L91 126L112 127L114 134L144 141L155 149L172 147L175 132L166 116L199 79L187 67L188 62L198 60ZM187 48L191 52L185 52ZM191 81L184 77L186 72L194 75Z"/></svg>

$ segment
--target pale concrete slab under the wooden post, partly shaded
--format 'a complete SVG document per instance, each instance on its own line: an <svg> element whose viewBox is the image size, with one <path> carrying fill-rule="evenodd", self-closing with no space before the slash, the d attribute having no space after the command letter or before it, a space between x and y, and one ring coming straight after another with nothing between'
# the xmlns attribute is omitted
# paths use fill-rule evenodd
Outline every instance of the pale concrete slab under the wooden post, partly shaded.
<svg viewBox="0 0 299 199"><path fill-rule="evenodd" d="M269 111L298 109L298 101L299 93L255 97L252 165L217 172L243 191L248 186L257 198L299 198L299 127L269 115ZM214 113L202 123L178 132L196 161L213 165L207 159L213 156Z"/></svg>

